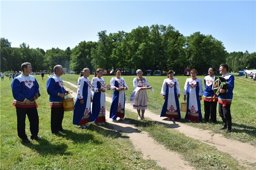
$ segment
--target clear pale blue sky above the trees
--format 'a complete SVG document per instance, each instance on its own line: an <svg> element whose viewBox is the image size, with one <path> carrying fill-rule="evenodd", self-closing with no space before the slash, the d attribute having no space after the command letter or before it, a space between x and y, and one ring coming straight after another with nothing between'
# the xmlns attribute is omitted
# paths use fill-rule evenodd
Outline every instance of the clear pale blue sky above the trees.
<svg viewBox="0 0 256 170"><path fill-rule="evenodd" d="M1 0L0 37L11 47L73 49L98 33L173 26L184 36L212 35L226 51L256 52L256 1Z"/></svg>

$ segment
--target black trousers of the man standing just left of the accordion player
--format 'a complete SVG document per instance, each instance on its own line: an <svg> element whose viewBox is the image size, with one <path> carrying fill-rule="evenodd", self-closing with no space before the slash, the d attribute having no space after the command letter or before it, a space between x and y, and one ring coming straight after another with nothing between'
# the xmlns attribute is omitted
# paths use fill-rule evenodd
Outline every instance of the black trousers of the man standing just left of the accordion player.
<svg viewBox="0 0 256 170"><path fill-rule="evenodd" d="M217 121L217 102L203 101L204 103L204 119L211 120L216 123Z"/></svg>

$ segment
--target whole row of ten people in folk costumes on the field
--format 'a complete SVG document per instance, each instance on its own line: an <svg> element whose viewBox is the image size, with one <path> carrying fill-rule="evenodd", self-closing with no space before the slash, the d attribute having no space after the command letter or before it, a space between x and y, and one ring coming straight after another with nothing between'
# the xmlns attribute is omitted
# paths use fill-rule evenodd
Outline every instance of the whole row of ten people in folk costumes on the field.
<svg viewBox="0 0 256 170"><path fill-rule="evenodd" d="M41 140L38 136L39 118L37 113L37 98L40 97L39 85L32 72L31 64L26 62L21 65L22 74L15 77L11 83L12 93L14 97L13 106L16 107L17 113L17 130L18 136L24 143L30 143L25 133L26 115L30 125L30 138L32 140ZM46 82L47 93L49 94L49 102L51 108L51 131L52 134L58 135L60 131L65 129L62 127L64 118L63 99L69 91L65 89L64 82L61 78L63 68L61 65L54 67L55 74L48 78ZM185 119L189 121L199 122L202 119L201 103L204 100L204 119L216 124L216 107L219 102L219 116L223 121L223 127L219 129L227 129L226 133L231 132L232 119L230 114L230 105L233 98L234 76L229 74L227 64L221 64L219 72L222 77L229 83L227 89L220 89L219 96L216 96L212 90L214 85L216 68L209 68L209 76L205 76L205 90L202 90L202 81L197 78L197 71L192 69L191 78L187 78L184 85L184 101L187 102ZM137 76L133 79L134 91L131 94L130 102L133 109L137 110L138 120L146 121L144 114L147 109L147 90L154 92L149 85L146 77L140 69L136 71ZM125 90L128 90L123 77L121 77L121 69L116 69L116 76L111 78L110 85L106 85L103 76L103 70L98 68L95 71L91 82L89 79L90 70L84 68L77 81L77 97L74 103L73 124L87 128L89 122L97 125L104 125L106 122L106 106L105 92L113 91L112 102L110 106L110 119L113 122L119 120L125 121ZM92 92L91 92L92 90ZM92 94L93 93L93 94ZM179 106L179 98L181 95L180 85L177 78L174 78L174 71L168 71L168 78L163 82L161 95L165 100L160 117L167 117L167 120L175 120L181 118L181 110ZM92 102L92 104L91 104ZM118 120L119 118L119 120Z"/></svg>

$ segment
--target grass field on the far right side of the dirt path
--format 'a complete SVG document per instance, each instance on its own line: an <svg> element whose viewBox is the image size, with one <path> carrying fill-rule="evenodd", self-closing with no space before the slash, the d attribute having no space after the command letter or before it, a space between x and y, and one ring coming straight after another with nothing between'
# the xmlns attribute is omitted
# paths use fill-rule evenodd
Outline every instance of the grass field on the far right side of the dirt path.
<svg viewBox="0 0 256 170"><path fill-rule="evenodd" d="M92 78L91 75L90 78ZM63 79L68 79L73 84L77 84L77 77L74 75L63 75ZM103 76L106 84L110 83L112 76ZM133 78L135 76L122 76L129 87L126 91L126 102L129 102L129 96L133 92ZM204 76L197 76L203 81ZM221 133L224 136L232 139L236 139L241 142L246 142L256 146L256 81L249 78L244 78L244 76L235 76L235 88L233 90L233 101L231 104L231 116L232 116L232 129L235 133L225 134L219 131L218 128L222 126L222 120L218 115L217 109L217 124L210 125L210 123L188 123L193 127L198 127L202 129L212 130L213 133ZM167 76L146 76L149 85L154 89L154 93L148 91L148 109L153 110L155 114L160 115L162 106L164 104L164 99L160 95L163 81ZM175 76L178 78L181 92L183 93L183 87L187 76ZM203 85L204 89L204 85ZM75 90L75 89L73 89ZM112 92L108 91L106 93L108 96L112 96ZM179 102L183 102L183 96ZM218 107L218 106L217 106ZM203 110L203 100L201 100L201 112L204 114ZM182 118L185 117L185 113L181 112ZM187 120L180 119L180 122L188 122ZM225 131L224 131L225 132Z"/></svg>

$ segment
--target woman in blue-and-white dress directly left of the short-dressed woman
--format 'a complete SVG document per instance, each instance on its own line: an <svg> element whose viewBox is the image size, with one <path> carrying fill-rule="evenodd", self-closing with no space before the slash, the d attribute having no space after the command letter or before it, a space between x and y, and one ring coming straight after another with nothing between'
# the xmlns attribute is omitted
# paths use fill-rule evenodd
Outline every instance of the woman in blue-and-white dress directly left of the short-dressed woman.
<svg viewBox="0 0 256 170"><path fill-rule="evenodd" d="M128 86L124 78L121 77L121 69L116 69L116 77L111 78L110 88L113 90L113 99L110 106L110 118L113 122L118 122L117 117L124 121L125 116L125 92Z"/></svg>

